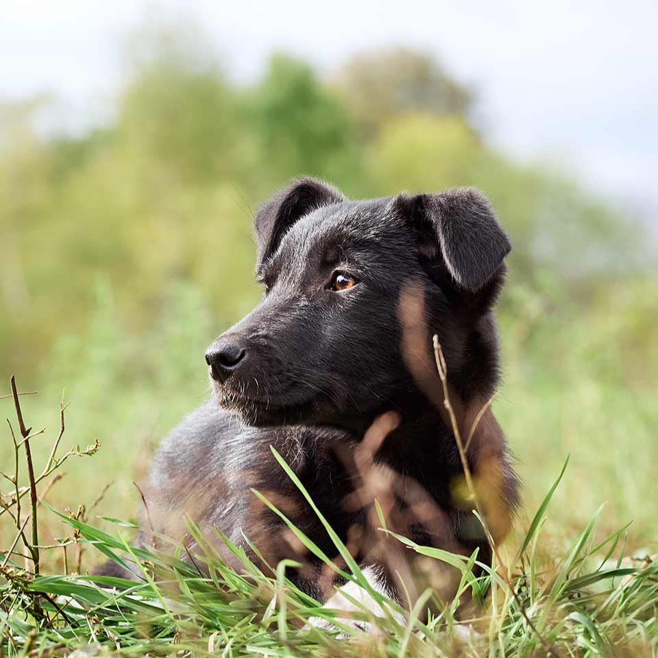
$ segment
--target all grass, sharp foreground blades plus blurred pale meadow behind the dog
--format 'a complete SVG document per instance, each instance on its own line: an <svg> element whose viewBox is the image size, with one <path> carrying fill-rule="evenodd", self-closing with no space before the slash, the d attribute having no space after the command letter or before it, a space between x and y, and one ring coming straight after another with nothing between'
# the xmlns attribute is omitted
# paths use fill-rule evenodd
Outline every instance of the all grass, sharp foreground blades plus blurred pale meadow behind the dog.
<svg viewBox="0 0 658 658"><path fill-rule="evenodd" d="M505 375L494 406L519 456L526 511L500 561L484 565L478 578L469 575L477 556L469 561L408 544L461 571L461 599L478 601L471 618L458 620L458 603L450 601L437 602L426 621L422 609L403 613L377 595L391 615L363 611L362 620L380 631L364 634L350 626L341 633L304 629L310 618L336 620L286 580L289 565L263 573L232 547L243 564L238 574L206 545L197 558L206 576L164 553L130 548L140 505L132 480L141 480L164 432L207 394L203 367L189 355L203 353L218 323L191 287L172 291L147 335L117 325L106 287L98 298L88 332L64 337L45 365L47 387L21 396L25 422L39 420L33 432L51 419L47 432L29 439L37 475L60 429L59 382L70 382L65 397L72 404L58 454L69 450L70 437L83 447L73 446L65 476L48 489L64 475L60 464L38 492L47 500L37 506L39 545L68 545L40 550L39 576L16 556L3 569L4 655L67 655L84 647L85 655L530 656L545 655L546 646L565 656L658 655L658 406L655 380L642 376L653 362L650 345L637 352L646 355L644 368L633 366L632 334L627 339L629 328L618 326L632 309L616 303L613 315L579 317L518 288L504 302ZM185 324L175 321L180 317ZM0 405L12 415L11 399ZM8 429L5 435L0 470L11 476L14 448ZM97 454L84 454L95 439L102 444ZM23 462L21 478L27 485ZM0 491L13 488L4 480ZM24 509L28 499L25 493ZM1 515L0 546L9 548L15 536ZM21 544L16 550L24 552ZM136 560L141 582L85 575L108 555ZM348 572L363 583L354 565ZM435 594L424 597L429 603ZM354 637L346 642L341 634Z"/></svg>

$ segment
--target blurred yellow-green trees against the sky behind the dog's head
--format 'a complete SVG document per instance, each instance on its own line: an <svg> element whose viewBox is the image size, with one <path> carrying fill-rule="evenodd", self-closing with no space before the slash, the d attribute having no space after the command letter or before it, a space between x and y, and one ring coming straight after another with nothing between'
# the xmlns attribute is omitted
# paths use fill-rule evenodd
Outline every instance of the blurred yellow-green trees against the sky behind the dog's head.
<svg viewBox="0 0 658 658"><path fill-rule="evenodd" d="M152 328L167 291L193 281L219 332L257 298L252 212L295 175L365 197L480 186L513 238L511 280L535 291L546 270L567 298L637 270L629 218L491 151L465 114L470 92L426 56L356 58L328 86L279 54L240 87L200 41L139 39L114 119L88 135L44 138L44 99L3 106L0 338L12 349L0 372L36 375L58 336L83 330L99 277L130 331ZM380 109L365 132L354 103Z"/></svg>

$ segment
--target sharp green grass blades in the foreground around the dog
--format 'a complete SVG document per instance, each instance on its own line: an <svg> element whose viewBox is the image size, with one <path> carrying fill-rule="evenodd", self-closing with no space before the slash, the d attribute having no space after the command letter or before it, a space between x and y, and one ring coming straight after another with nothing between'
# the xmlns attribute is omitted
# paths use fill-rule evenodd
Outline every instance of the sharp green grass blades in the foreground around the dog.
<svg viewBox="0 0 658 658"><path fill-rule="evenodd" d="M15 454L18 458L19 450ZM371 588L293 471L276 456L343 557L345 577L376 600L381 615L358 598L354 613L323 607L287 578L294 563L284 561L261 570L242 548L218 534L239 560L241 568L234 570L191 520L188 531L199 552L192 561L183 561L184 549L167 537L158 541L167 550L132 547L136 529L132 522L106 518L113 528L106 532L88 520L84 508L61 513L34 500L31 513L60 520L67 533L56 546L42 546L42 554L66 554L69 547L84 546L88 552L132 566L140 576L134 582L88 575L69 559L57 574L37 574L36 560L43 557L31 550L36 548L34 537L23 535L19 516L22 528L16 529L16 541L7 546L1 566L1 652L68 655L84 648L85 655L657 655L655 556L626 555L626 528L597 539L600 511L563 550L544 544L546 513L566 463L526 531L516 539L517 546L509 546L502 557L496 552L491 564L478 561L477 552L470 557L452 555L398 537L408 550L448 563L461 574L454 599L440 600L427 589L408 611ZM20 497L17 484L15 491ZM257 491L254 496L263 498ZM6 518L10 510L15 511L16 500L3 497L3 508ZM382 532L385 522L382 519ZM309 537L291 528L308 550L336 569ZM23 549L17 548L19 540L25 544ZM474 575L475 564L480 566L479 576ZM468 618L460 605L466 599L474 602Z"/></svg>

